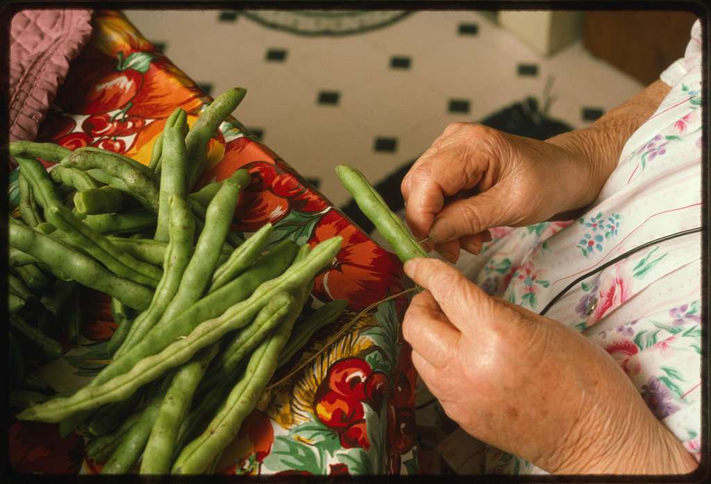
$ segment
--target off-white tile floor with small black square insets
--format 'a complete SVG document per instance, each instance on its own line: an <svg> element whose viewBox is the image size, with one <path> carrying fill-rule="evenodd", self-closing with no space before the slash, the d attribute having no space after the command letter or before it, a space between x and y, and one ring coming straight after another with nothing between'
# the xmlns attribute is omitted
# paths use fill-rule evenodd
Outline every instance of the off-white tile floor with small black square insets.
<svg viewBox="0 0 711 484"><path fill-rule="evenodd" d="M572 128L642 87L582 43L541 57L476 11L412 12L338 37L274 30L235 11L125 12L210 94L247 87L235 116L337 205L350 197L334 165L378 182L447 123L481 121L529 96L542 105L550 79L549 116Z"/></svg>

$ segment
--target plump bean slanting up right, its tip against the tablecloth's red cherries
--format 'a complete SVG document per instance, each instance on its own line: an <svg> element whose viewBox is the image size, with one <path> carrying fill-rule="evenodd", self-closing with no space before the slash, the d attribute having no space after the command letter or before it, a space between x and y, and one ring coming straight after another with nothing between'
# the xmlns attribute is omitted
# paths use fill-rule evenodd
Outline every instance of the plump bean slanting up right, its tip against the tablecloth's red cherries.
<svg viewBox="0 0 711 484"><path fill-rule="evenodd" d="M161 319L171 320L200 299L210 283L240 194L240 180L246 170L237 170L225 180L215 195L205 217L205 229L198 238L195 253L183 273L183 278Z"/></svg>

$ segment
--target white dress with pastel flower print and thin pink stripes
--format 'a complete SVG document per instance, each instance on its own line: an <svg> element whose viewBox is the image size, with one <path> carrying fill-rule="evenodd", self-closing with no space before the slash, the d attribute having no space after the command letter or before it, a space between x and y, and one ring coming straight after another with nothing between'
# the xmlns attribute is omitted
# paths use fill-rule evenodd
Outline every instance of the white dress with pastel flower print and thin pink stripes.
<svg viewBox="0 0 711 484"><path fill-rule="evenodd" d="M701 26L661 79L671 90L627 141L616 170L577 221L493 229L459 268L491 295L540 312L580 275L643 243L702 225ZM584 180L581 180L584 183ZM700 458L701 235L638 251L577 283L546 316L619 361L656 417ZM561 402L565 404L565 402ZM542 473L486 449L486 473Z"/></svg>

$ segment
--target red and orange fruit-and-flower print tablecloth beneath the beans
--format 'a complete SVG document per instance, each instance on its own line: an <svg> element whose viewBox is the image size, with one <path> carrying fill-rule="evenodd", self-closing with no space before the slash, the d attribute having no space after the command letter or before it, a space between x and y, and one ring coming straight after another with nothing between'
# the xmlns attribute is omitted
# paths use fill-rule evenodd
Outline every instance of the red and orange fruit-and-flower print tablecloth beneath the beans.
<svg viewBox="0 0 711 484"><path fill-rule="evenodd" d="M98 146L148 164L171 112L185 109L192 124L211 99L122 13L97 11L93 22L92 40L73 61L38 139L72 149ZM208 159L198 187L224 180L241 167L252 174L238 202L236 231L248 234L270 221L275 226L272 244L290 238L314 246L336 234L344 239L336 263L317 277L304 313L338 298L348 299L348 308L274 381L314 355L362 309L402 291L405 279L395 255L370 240L238 121L220 126ZM11 207L17 204L16 177L12 172ZM117 327L109 298L86 290L84 300L80 341L71 346L65 335L53 335L63 345L63 356L36 371L58 392L85 385L108 361L106 343ZM304 370L266 392L223 453L218 473L415 473L415 371L400 333L406 307L405 296L378 304ZM60 439L57 424L14 417L9 426L9 458L17 473L101 469L85 456L86 438L79 433Z"/></svg>

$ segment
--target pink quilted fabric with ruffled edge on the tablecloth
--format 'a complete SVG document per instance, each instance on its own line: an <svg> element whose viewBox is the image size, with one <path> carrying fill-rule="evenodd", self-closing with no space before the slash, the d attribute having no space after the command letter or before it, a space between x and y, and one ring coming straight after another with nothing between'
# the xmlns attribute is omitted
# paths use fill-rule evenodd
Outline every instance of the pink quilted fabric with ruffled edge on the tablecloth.
<svg viewBox="0 0 711 484"><path fill-rule="evenodd" d="M69 62L92 31L90 10L21 10L10 27L10 141L33 140Z"/></svg>

